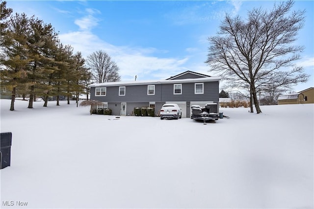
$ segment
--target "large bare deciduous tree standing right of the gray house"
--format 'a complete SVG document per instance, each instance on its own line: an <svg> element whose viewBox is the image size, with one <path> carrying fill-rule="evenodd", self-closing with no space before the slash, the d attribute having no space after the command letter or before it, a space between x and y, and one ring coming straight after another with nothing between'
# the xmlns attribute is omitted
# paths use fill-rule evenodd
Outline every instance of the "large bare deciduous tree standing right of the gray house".
<svg viewBox="0 0 314 209"><path fill-rule="evenodd" d="M275 4L269 12L255 8L246 21L226 15L218 35L209 37L206 63L211 71L219 72L233 87L249 88L257 113L262 113L259 92L288 88L309 77L294 64L304 48L292 43L303 27L305 11L290 11L292 6L290 0Z"/></svg>

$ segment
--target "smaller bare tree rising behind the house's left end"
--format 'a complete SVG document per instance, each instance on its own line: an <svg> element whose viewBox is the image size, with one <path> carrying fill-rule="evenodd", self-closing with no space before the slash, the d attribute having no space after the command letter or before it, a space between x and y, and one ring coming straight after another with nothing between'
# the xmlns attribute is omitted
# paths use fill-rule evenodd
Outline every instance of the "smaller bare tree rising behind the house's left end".
<svg viewBox="0 0 314 209"><path fill-rule="evenodd" d="M96 83L120 81L119 67L103 50L93 52L86 59Z"/></svg>

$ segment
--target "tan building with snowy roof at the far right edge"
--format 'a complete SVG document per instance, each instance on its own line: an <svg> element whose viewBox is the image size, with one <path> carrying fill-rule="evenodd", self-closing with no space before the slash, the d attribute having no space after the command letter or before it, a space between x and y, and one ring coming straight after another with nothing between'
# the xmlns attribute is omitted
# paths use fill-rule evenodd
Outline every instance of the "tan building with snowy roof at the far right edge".
<svg viewBox="0 0 314 209"><path fill-rule="evenodd" d="M290 93L278 96L278 104L309 104L314 103L314 88L298 93Z"/></svg>

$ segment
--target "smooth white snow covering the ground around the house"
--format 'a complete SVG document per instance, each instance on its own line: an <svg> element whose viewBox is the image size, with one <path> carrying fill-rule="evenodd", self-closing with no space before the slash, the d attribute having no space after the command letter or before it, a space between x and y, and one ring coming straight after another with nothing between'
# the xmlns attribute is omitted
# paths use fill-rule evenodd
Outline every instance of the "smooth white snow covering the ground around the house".
<svg viewBox="0 0 314 209"><path fill-rule="evenodd" d="M1 208L314 207L313 104L221 108L207 125L27 105L0 100Z"/></svg>

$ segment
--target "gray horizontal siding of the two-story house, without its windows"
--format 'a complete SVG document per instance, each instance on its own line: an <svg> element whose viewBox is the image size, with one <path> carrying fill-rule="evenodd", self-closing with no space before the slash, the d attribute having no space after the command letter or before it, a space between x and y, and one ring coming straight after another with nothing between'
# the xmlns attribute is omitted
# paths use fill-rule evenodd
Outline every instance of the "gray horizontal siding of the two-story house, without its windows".
<svg viewBox="0 0 314 209"><path fill-rule="evenodd" d="M176 76L175 76L176 77ZM102 102L108 102L108 108L112 110L113 115L121 114L121 103L127 103L127 116L133 115L134 107L149 107L149 102L155 102L155 115L159 116L161 106L166 102L185 102L186 116L190 115L190 102L210 101L219 104L219 80L207 79L210 76L185 73L179 75L171 82L153 81L144 82L145 84L136 83L117 83L106 85L105 83L91 87L91 99ZM195 78L206 78L193 80ZM177 79L178 83L176 83ZM191 80L186 80L191 79ZM171 80L171 79L170 79ZM195 83L204 84L202 94L195 93ZM121 85L122 84L122 85ZM182 93L174 94L174 84L182 84ZM148 95L148 85L155 85L155 94ZM119 86L125 87L125 95L119 96ZM105 96L95 96L96 88L106 87ZM184 107L185 109L185 107Z"/></svg>

